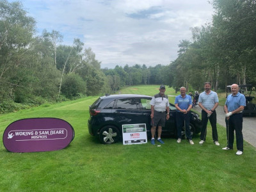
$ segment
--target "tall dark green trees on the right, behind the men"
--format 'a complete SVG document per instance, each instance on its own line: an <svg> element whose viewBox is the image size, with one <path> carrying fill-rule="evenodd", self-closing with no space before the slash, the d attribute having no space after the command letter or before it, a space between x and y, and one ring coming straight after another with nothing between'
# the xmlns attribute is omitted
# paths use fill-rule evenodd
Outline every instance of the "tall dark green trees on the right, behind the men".
<svg viewBox="0 0 256 192"><path fill-rule="evenodd" d="M191 28L192 41L182 40L170 63L172 81L200 90L210 81L214 90L228 84L256 83L256 1L213 0L212 22Z"/></svg>

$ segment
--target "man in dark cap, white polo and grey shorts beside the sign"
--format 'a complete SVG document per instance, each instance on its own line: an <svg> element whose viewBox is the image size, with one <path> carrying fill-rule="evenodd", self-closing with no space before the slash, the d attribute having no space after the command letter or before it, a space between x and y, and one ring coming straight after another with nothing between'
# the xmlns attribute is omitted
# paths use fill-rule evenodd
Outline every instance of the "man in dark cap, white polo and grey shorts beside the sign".
<svg viewBox="0 0 256 192"><path fill-rule="evenodd" d="M164 95L165 92L165 86L161 85L159 88L159 93L154 95L152 100L150 101L151 105L151 144L155 145L155 133L156 133L156 127L158 125L157 129L157 141L164 144L164 141L161 140L161 133L162 133L162 127L165 125L165 120L168 120L170 118L169 112L170 112L170 104L167 95ZM165 113L167 111L167 115Z"/></svg>

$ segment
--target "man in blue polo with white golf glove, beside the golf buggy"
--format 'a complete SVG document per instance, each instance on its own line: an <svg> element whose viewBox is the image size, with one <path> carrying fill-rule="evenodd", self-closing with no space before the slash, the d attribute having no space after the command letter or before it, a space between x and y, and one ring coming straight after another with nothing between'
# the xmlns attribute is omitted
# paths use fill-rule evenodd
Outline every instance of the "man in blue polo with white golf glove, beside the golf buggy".
<svg viewBox="0 0 256 192"><path fill-rule="evenodd" d="M226 113L227 125L227 147L223 150L233 149L234 131L236 131L236 154L243 154L243 109L246 106L246 99L243 94L238 92L238 85L232 84L231 92L225 102L224 111Z"/></svg>

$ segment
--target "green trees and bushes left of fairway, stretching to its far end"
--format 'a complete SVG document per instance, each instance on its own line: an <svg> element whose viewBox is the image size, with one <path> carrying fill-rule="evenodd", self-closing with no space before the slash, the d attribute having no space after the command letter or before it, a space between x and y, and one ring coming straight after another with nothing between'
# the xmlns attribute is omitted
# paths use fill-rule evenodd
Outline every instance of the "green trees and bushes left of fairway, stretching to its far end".
<svg viewBox="0 0 256 192"><path fill-rule="evenodd" d="M0 113L161 81L162 65L101 69L79 38L62 42L59 31L36 35L35 19L20 1L0 0Z"/></svg>

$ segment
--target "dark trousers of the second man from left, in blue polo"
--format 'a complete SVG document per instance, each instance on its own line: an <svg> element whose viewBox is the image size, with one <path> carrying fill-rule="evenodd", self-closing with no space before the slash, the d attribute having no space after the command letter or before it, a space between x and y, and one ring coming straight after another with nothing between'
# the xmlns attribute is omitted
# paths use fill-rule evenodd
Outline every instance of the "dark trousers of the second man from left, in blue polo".
<svg viewBox="0 0 256 192"><path fill-rule="evenodd" d="M189 118L190 118L190 112L187 114L176 112L176 126L177 126L177 136L181 139L181 129L182 126L185 123L186 127L186 137L188 140L192 140L191 131L189 129Z"/></svg>

